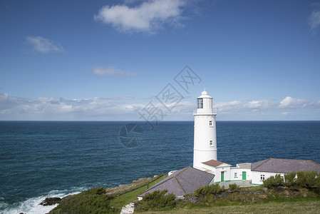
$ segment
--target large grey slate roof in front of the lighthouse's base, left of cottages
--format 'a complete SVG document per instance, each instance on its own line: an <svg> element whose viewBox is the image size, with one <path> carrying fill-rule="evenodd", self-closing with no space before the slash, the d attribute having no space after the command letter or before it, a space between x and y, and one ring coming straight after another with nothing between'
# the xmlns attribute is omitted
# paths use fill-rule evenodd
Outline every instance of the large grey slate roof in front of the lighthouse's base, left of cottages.
<svg viewBox="0 0 320 214"><path fill-rule="evenodd" d="M213 178L215 178L213 174L188 166L175 171L175 173L167 176L167 178L148 188L148 190L145 190L138 196L143 197L147 193L153 193L155 190L165 189L167 189L168 193L183 196L187 193L194 193L197 188L208 185Z"/></svg>

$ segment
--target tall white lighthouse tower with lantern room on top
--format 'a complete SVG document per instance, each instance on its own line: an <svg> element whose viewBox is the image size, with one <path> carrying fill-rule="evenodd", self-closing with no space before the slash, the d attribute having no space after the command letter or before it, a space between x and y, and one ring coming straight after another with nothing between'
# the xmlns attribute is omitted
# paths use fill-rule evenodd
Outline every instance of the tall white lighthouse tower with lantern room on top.
<svg viewBox="0 0 320 214"><path fill-rule="evenodd" d="M202 162L217 161L216 111L212 110L212 97L202 91L197 98L195 116L195 139L193 147L193 167L202 169Z"/></svg>

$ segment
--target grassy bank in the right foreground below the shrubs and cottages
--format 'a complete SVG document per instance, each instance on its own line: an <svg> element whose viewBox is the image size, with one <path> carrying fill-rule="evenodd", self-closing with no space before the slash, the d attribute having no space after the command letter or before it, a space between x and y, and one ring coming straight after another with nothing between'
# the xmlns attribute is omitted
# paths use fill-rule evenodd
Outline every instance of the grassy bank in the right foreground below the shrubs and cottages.
<svg viewBox="0 0 320 214"><path fill-rule="evenodd" d="M291 193L289 188L240 188L223 198L206 195L201 201L178 200L172 207L153 211L135 209L135 213L320 213L319 192L306 188L298 188Z"/></svg>

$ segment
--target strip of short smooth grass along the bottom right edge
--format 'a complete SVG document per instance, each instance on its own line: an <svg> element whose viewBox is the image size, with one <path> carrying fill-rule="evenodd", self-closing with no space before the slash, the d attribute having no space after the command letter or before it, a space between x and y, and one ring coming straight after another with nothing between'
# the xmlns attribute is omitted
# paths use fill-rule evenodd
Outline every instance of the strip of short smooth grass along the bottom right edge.
<svg viewBox="0 0 320 214"><path fill-rule="evenodd" d="M320 213L320 200L300 200L287 202L253 203L248 205L229 205L219 207L195 207L195 209L165 210L143 213Z"/></svg>

